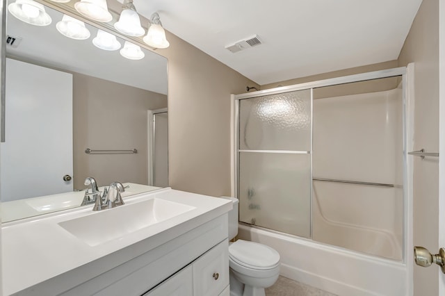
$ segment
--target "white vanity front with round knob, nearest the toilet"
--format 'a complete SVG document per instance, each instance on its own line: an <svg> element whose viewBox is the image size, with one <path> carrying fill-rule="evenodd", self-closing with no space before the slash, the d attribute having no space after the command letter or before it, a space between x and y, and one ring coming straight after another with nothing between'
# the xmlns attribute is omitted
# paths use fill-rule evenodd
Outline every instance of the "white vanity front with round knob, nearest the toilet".
<svg viewBox="0 0 445 296"><path fill-rule="evenodd" d="M229 242L224 240L193 262L193 295L219 295L229 285Z"/></svg>

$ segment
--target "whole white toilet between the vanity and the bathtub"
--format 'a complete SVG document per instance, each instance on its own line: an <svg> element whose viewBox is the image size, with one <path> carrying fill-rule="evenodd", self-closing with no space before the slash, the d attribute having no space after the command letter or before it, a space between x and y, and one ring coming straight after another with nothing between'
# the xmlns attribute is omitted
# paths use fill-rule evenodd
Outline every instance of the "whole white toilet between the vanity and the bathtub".
<svg viewBox="0 0 445 296"><path fill-rule="evenodd" d="M229 240L238 234L238 199L229 211ZM266 245L247 240L229 242L230 295L265 296L280 275L280 254Z"/></svg>

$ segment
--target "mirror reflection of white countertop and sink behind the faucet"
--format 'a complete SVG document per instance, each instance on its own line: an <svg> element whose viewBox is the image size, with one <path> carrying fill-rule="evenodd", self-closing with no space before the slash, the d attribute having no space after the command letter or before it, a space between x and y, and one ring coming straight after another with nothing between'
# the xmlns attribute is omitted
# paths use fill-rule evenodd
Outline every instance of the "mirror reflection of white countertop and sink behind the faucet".
<svg viewBox="0 0 445 296"><path fill-rule="evenodd" d="M136 183L123 183L123 185L129 187L122 192L122 197L161 189ZM103 191L104 187L99 188L99 190ZM1 220L2 222L9 222L69 208L77 208L83 201L83 195L85 195L85 190L3 202L1 204Z"/></svg>

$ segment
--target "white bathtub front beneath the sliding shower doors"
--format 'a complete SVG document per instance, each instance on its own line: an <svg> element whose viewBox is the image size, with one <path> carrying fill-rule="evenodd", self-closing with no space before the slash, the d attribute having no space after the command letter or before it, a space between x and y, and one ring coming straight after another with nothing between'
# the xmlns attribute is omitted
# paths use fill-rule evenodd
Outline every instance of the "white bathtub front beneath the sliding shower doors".
<svg viewBox="0 0 445 296"><path fill-rule="evenodd" d="M341 296L408 294L405 263L239 224L238 238L280 253L283 277Z"/></svg>

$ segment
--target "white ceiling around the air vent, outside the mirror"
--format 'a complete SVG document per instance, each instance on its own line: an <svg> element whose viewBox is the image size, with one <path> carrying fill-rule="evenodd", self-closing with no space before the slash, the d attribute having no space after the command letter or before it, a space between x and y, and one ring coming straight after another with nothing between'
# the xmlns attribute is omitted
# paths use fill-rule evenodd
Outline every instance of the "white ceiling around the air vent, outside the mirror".
<svg viewBox="0 0 445 296"><path fill-rule="evenodd" d="M122 0L121 0L122 1ZM179 38L264 85L398 58L421 0L134 0ZM259 35L264 44L225 49Z"/></svg>

